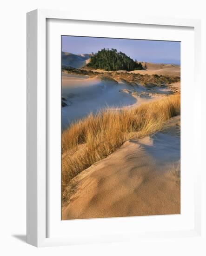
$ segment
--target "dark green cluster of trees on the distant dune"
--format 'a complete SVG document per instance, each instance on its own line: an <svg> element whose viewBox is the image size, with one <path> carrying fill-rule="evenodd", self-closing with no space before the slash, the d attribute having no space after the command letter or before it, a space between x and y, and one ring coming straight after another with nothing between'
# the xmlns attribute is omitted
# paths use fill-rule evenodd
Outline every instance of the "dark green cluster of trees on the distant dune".
<svg viewBox="0 0 206 256"><path fill-rule="evenodd" d="M141 63L133 61L130 57L122 52L117 52L117 49L105 49L92 54L90 62L87 67L93 67L95 69L111 70L141 70L144 69Z"/></svg>

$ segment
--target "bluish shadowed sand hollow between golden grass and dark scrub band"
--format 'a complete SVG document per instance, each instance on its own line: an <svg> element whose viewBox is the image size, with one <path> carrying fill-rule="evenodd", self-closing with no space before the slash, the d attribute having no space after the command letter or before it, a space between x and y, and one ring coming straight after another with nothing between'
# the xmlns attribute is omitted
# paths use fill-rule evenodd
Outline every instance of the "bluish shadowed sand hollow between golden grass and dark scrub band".
<svg viewBox="0 0 206 256"><path fill-rule="evenodd" d="M62 97L67 101L62 108L62 128L89 113L102 108L124 108L139 106L154 101L171 92L170 88L133 86L126 81L89 78L75 74L62 73Z"/></svg>

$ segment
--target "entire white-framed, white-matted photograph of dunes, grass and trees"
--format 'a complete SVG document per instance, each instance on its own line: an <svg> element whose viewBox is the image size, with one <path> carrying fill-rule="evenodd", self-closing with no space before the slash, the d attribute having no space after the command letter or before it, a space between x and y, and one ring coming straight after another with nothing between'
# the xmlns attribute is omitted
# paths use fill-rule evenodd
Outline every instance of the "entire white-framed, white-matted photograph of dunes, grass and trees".
<svg viewBox="0 0 206 256"><path fill-rule="evenodd" d="M107 19L27 13L34 246L200 236L200 21Z"/></svg>

